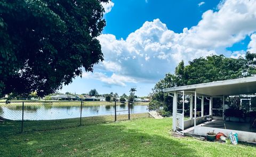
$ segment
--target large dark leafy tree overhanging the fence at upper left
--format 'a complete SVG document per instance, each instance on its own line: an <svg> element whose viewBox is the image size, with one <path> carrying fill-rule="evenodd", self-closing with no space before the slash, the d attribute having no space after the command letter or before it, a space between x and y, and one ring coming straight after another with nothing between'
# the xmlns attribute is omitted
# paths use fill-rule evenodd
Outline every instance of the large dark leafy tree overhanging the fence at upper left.
<svg viewBox="0 0 256 157"><path fill-rule="evenodd" d="M96 39L109 0L0 1L0 97L69 84L103 60Z"/></svg>

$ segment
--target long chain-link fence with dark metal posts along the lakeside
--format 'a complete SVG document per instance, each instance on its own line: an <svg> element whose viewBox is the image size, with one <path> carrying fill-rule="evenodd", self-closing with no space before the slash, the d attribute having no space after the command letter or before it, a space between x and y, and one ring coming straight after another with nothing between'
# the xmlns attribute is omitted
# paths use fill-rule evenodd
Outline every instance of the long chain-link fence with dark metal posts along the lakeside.
<svg viewBox="0 0 256 157"><path fill-rule="evenodd" d="M0 132L17 134L148 117L148 102L0 102Z"/></svg>

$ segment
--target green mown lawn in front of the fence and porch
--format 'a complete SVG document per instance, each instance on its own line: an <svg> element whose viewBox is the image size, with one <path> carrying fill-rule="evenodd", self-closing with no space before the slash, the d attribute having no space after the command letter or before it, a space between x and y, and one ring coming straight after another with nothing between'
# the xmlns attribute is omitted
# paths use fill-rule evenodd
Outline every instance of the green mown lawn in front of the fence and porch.
<svg viewBox="0 0 256 157"><path fill-rule="evenodd" d="M1 125L1 124L0 124ZM0 136L0 156L255 156L256 147L174 137L171 118Z"/></svg>

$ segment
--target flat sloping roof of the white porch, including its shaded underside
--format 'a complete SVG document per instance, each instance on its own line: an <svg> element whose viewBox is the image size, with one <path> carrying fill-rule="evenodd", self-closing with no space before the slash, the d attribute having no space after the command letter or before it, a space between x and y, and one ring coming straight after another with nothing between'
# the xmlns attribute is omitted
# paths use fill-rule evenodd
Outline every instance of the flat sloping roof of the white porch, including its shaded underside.
<svg viewBox="0 0 256 157"><path fill-rule="evenodd" d="M251 94L256 93L256 76L178 86L174 88L167 88L163 91L167 93L185 91L187 94L193 94L196 91L197 94L208 96Z"/></svg>

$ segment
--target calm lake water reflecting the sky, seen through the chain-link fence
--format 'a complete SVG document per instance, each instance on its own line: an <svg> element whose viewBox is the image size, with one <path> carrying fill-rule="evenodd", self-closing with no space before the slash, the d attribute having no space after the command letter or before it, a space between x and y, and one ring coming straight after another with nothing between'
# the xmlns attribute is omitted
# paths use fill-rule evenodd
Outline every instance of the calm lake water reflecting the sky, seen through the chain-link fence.
<svg viewBox="0 0 256 157"><path fill-rule="evenodd" d="M120 104L116 106L117 110L127 110L127 104ZM66 119L80 117L81 107L78 106L25 106L24 119L25 120L52 120L52 119ZM131 114L139 114L148 112L148 106L145 105L131 105ZM128 111L117 112L117 115L127 114ZM115 107L112 105L99 106L83 106L82 117L114 115ZM22 107L21 106L0 106L0 116L11 119L21 120Z"/></svg>

